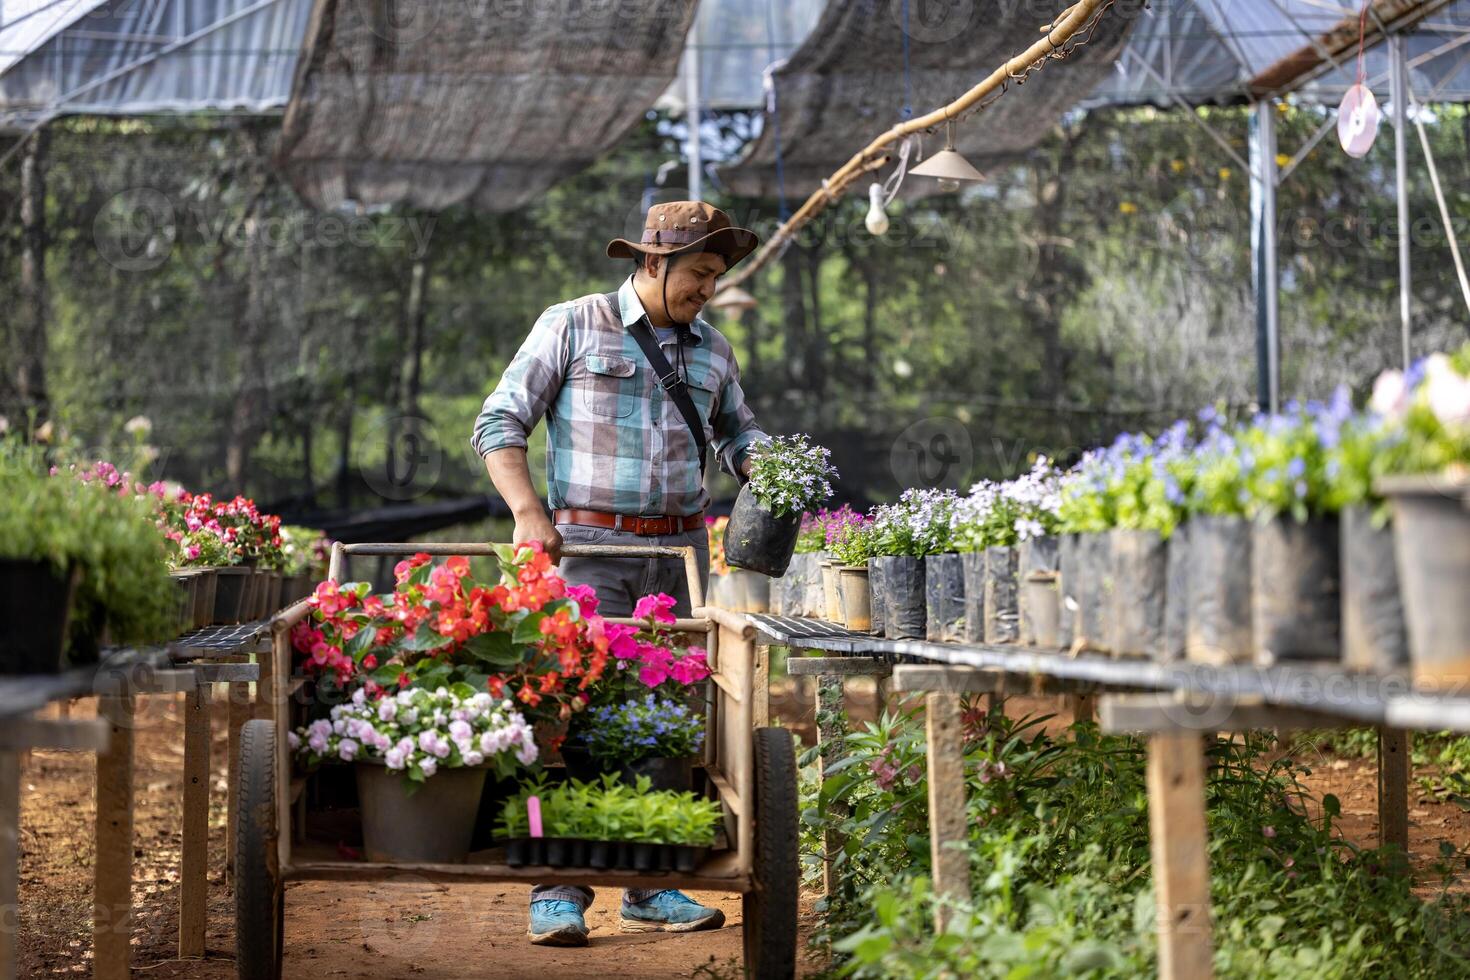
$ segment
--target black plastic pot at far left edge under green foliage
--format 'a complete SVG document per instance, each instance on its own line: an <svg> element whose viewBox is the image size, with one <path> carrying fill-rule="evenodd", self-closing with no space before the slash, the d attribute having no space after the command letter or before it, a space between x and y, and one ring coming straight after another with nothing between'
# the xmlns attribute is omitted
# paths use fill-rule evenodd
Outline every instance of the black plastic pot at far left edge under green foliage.
<svg viewBox="0 0 1470 980"><path fill-rule="evenodd" d="M62 669L76 579L75 570L60 574L47 561L0 558L6 623L0 673L54 674Z"/></svg>

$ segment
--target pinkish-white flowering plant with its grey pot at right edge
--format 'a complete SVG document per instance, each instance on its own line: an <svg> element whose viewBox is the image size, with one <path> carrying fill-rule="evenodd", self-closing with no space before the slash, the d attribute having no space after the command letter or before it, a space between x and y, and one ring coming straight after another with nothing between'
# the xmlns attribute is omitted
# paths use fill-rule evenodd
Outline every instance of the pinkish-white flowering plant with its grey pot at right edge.
<svg viewBox="0 0 1470 980"><path fill-rule="evenodd" d="M1470 680L1470 344L1386 372L1373 407L1395 430L1376 489L1394 516L1394 550L1414 682Z"/></svg>

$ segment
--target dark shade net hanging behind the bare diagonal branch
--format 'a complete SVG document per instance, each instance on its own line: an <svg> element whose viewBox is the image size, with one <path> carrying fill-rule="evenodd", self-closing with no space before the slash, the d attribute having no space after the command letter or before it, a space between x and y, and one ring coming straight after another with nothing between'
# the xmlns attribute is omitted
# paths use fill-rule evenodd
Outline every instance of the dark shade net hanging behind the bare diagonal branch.
<svg viewBox="0 0 1470 980"><path fill-rule="evenodd" d="M775 112L767 104L760 137L738 163L720 170L732 191L806 197L873 137L903 122L906 101L919 116L958 98L1035 44L1039 28L1066 4L914 0L907 82L904 6L904 0L828 4L811 35L773 73ZM1085 32L1086 44L1026 81L1008 82L1004 96L957 126L956 147L982 167L1033 147L1113 71L1135 18L1136 4L1108 9ZM925 153L942 148L942 132L926 138ZM923 185L910 181L906 191Z"/></svg>

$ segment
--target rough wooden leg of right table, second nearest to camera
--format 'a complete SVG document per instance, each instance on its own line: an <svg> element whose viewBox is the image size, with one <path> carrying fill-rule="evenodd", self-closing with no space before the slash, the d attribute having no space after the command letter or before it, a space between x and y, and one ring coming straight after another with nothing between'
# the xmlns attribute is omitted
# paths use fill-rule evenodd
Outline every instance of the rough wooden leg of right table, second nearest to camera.
<svg viewBox="0 0 1470 980"><path fill-rule="evenodd" d="M970 855L964 814L964 730L960 695L925 695L929 739L929 852L933 864L935 932L950 926L944 899L970 898Z"/></svg>

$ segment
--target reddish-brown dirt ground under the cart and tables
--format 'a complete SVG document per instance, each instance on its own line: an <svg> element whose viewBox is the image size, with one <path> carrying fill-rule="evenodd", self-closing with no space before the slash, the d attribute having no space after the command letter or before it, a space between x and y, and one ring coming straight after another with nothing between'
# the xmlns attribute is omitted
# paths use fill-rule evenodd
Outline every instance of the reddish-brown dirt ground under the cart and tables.
<svg viewBox="0 0 1470 980"><path fill-rule="evenodd" d="M853 720L873 717L875 704L853 692ZM779 716L810 741L814 713L810 692L791 682L773 691ZM1053 713L1055 702L1011 699L1008 713ZM54 708L53 708L54 711ZM74 714L94 711L82 701ZM137 977L234 977L234 912L223 877L225 739L216 713L216 782L210 796L209 955L178 961L179 796L182 721L176 701L154 698L141 716L134 786L134 967ZM1047 727L1060 727L1063 718ZM1304 760L1316 763L1308 780L1317 795L1342 798L1344 833L1372 846L1377 837L1374 765L1372 760ZM91 973L93 780L91 755L35 752L21 773L21 973L22 977ZM1417 773L1423 774L1423 773ZM1470 814L1419 792L1410 793L1411 851L1417 868L1438 854L1441 840L1470 848ZM695 896L725 911L717 932L685 936L617 933L617 895L600 890L589 912L592 945L587 949L541 949L525 940L525 886L470 884L447 887L426 880L382 883L293 883L287 898L288 979L348 980L460 977L644 979L738 977L741 961L739 898ZM810 908L813 896L807 896ZM803 921L803 942L810 917ZM819 964L803 959L798 976Z"/></svg>

